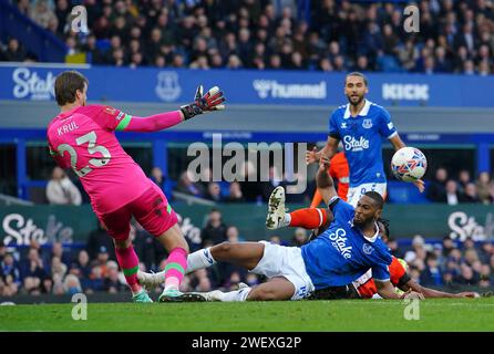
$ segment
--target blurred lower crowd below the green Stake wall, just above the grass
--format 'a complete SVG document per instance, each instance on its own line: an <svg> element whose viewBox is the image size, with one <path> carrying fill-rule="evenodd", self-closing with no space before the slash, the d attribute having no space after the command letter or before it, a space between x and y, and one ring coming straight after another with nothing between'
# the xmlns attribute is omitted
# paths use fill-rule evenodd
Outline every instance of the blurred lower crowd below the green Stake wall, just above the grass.
<svg viewBox="0 0 494 354"><path fill-rule="evenodd" d="M289 242L278 236L272 236L270 242L300 247L308 241L307 230L297 228L292 235ZM131 238L142 270L164 269L166 253L153 236L135 223ZM193 242L187 238L187 241L191 251L195 251L223 241L246 240L237 227L228 225L218 210L212 209L200 231L200 240ZM399 248L397 239L391 236L389 247L393 256L408 262L412 279L423 285L450 290L475 287L481 291L494 287L494 244L491 241L466 239L459 242L444 237L442 242L429 243L421 236L415 236L411 247ZM241 268L219 262L207 270L186 275L182 289L228 290L235 289L239 282L254 285L261 281L260 277ZM45 248L37 241L31 241L25 248L11 249L0 242L0 296L122 291L128 291L125 279L119 271L112 240L102 227L89 235L82 249L64 248L60 242Z"/></svg>

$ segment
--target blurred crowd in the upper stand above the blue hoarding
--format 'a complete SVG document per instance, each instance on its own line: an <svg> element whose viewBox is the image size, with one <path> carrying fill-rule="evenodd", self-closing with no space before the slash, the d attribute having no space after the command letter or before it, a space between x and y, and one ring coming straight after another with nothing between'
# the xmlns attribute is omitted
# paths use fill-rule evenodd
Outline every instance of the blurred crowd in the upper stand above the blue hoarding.
<svg viewBox="0 0 494 354"><path fill-rule="evenodd" d="M114 66L493 72L492 0L420 1L420 32L406 33L408 3L312 0L16 0L69 54ZM90 32L71 30L83 4ZM0 60L33 60L16 39Z"/></svg>

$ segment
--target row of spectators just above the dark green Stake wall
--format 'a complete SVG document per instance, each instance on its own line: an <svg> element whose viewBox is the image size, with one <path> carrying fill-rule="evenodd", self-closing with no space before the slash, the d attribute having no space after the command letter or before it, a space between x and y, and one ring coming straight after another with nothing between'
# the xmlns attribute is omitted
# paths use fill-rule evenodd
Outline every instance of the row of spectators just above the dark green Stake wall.
<svg viewBox="0 0 494 354"><path fill-rule="evenodd" d="M72 175L71 171L69 171ZM269 170L267 181L233 181L217 183L209 178L193 181L191 171L181 174L177 181L173 181L172 190L181 195L209 200L213 202L263 202L266 204L271 191L279 185L286 187L286 179L275 178L275 168ZM482 171L476 178L472 178L469 170L461 170L457 176L452 176L445 167L440 167L432 174L434 177L426 180L425 200L423 202L438 202L447 205L457 204L494 204L494 180L488 171ZM45 201L52 205L81 205L89 202L89 197L76 178L70 178L60 167L54 167L52 177L48 181ZM174 194L168 190L166 176L159 167L153 167L150 178L157 184L171 200ZM338 183L337 183L338 184ZM287 202L310 204L316 190L315 181L308 180L306 191L300 195L287 195ZM390 186L389 192L393 192ZM390 202L392 202L390 200Z"/></svg>

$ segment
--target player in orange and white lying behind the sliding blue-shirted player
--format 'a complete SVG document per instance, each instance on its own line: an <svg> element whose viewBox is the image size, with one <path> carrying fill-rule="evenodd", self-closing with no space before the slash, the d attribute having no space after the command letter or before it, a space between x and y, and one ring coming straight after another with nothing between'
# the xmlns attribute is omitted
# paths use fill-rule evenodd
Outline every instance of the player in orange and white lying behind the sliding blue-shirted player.
<svg viewBox="0 0 494 354"><path fill-rule="evenodd" d="M320 194L329 192L318 188ZM331 216L331 215L330 215ZM332 217L332 216L331 216ZM332 219L328 219L328 212L323 208L303 208L295 210L290 214L285 208L285 190L281 186L275 188L269 197L268 215L266 225L270 225L270 229L277 229L282 226L302 227L312 229L310 239L322 233ZM384 242L389 239L389 223L387 220L378 219L377 225L380 229L381 238ZM276 227L274 227L276 226ZM404 264L403 264L404 263ZM391 283L402 291L413 290L422 293L424 298L477 298L475 292L449 293L443 291L425 288L412 280L406 273L405 262L393 257L389 266ZM366 274L344 287L330 287L320 289L312 293L311 299L371 299L378 293L374 280L372 279L372 270L369 269Z"/></svg>

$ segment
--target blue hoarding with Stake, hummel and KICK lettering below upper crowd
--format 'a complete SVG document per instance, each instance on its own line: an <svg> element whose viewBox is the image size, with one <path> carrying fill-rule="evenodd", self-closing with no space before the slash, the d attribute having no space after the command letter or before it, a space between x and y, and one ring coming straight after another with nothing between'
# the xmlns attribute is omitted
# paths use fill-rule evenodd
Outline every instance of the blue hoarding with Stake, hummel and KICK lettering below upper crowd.
<svg viewBox="0 0 494 354"><path fill-rule="evenodd" d="M0 100L54 100L62 65L0 66ZM344 73L86 66L90 101L188 102L219 85L230 104L339 105ZM493 107L494 76L368 74L369 98L385 106Z"/></svg>

